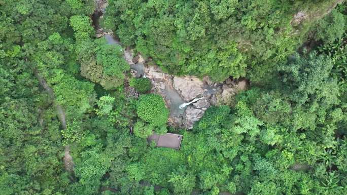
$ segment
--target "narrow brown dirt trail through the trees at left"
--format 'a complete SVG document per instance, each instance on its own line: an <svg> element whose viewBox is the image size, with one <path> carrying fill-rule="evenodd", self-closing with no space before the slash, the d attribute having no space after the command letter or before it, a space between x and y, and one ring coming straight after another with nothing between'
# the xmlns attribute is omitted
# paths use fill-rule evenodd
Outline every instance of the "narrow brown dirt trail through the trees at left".
<svg viewBox="0 0 347 195"><path fill-rule="evenodd" d="M61 129L65 130L66 129L65 112L62 109L62 107L59 104L57 104L57 102L55 102L53 89L48 86L46 80L44 79L44 77L42 77L39 74L38 70L34 70L34 74L35 74L36 78L39 80L40 85L45 89L45 91L48 93L49 97L51 99L53 99L54 103L56 104L57 116L58 116L58 119L59 119L60 124L61 124ZM73 168L74 168L74 161L73 161L72 156L70 155L70 146L68 146L68 145L66 145L65 149L64 149L63 161L64 161L65 170L68 172L72 172Z"/></svg>

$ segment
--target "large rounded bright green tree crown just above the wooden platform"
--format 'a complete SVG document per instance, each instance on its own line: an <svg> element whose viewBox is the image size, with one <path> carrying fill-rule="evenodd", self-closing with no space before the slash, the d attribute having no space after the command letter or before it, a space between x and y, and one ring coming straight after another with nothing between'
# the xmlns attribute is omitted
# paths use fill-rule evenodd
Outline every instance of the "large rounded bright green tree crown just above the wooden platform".
<svg viewBox="0 0 347 195"><path fill-rule="evenodd" d="M162 133L162 129L166 128L169 111L160 95L141 95L136 102L136 113L140 119L153 127L154 131Z"/></svg>

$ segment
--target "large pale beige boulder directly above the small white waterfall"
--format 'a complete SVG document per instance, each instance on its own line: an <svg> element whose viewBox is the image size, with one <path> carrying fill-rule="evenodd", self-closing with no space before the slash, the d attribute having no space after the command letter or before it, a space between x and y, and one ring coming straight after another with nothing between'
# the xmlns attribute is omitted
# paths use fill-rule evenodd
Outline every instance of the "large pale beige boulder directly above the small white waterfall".
<svg viewBox="0 0 347 195"><path fill-rule="evenodd" d="M190 101L203 94L203 82L195 76L175 76L173 77L173 87L184 101Z"/></svg>

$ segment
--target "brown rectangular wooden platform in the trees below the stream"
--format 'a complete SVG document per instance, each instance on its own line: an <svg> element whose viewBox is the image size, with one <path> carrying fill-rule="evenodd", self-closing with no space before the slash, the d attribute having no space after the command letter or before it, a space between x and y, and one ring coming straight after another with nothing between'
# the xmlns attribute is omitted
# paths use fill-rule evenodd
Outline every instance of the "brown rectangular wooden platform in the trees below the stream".
<svg viewBox="0 0 347 195"><path fill-rule="evenodd" d="M155 141L157 147L180 149L182 138L183 136L180 134L166 133L164 135L158 135L153 133L147 138L147 141Z"/></svg>

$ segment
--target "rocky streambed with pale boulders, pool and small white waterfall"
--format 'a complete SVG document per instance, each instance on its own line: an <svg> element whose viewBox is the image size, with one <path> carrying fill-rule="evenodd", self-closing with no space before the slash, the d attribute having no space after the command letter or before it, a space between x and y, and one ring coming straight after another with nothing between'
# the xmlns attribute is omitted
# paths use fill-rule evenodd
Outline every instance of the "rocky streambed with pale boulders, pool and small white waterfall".
<svg viewBox="0 0 347 195"><path fill-rule="evenodd" d="M246 90L249 85L245 79L229 78L215 83L208 76L203 79L189 75L174 76L156 65L148 65L150 60L146 61L141 54L133 55L129 48L125 49L123 56L130 65L132 76L151 80L151 93L160 94L170 109L169 124L180 128L192 129L207 108L230 103L238 91Z"/></svg>

